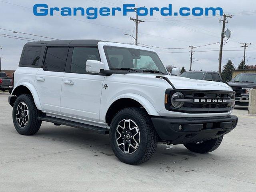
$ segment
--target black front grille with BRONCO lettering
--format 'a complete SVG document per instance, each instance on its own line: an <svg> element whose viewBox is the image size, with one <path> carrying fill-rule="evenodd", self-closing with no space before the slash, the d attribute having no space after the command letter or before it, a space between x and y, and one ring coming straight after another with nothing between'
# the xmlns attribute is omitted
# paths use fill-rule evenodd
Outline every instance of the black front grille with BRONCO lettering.
<svg viewBox="0 0 256 192"><path fill-rule="evenodd" d="M176 92L181 92L184 95L184 105L176 109L171 105L172 95ZM233 91L198 91L198 90L166 90L168 94L168 104L165 105L167 110L173 110L186 113L222 113L232 110L230 106L231 95ZM195 102L199 100L200 102ZM210 102L204 102L201 100L211 100ZM217 102L215 102L217 100ZM223 100L226 102L223 102ZM219 102L218 102L219 101Z"/></svg>

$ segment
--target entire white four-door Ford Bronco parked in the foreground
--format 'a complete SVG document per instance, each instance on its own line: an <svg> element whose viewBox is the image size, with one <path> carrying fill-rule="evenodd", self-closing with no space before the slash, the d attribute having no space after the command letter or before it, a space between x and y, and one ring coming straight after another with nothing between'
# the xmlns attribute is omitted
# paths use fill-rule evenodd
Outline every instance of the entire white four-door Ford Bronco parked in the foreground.
<svg viewBox="0 0 256 192"><path fill-rule="evenodd" d="M109 134L116 157L147 161L158 142L207 153L236 127L225 83L168 75L151 48L100 40L27 43L9 96L19 134L42 121Z"/></svg>

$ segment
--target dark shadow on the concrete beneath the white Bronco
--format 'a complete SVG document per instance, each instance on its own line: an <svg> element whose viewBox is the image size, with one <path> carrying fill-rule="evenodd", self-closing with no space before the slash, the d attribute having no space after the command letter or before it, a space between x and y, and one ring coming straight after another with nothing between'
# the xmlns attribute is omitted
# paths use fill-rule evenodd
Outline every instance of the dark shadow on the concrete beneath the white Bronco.
<svg viewBox="0 0 256 192"><path fill-rule="evenodd" d="M68 126L54 126L50 123L43 122L42 128L40 128L39 132L34 136L54 140L55 142L65 142L66 146L70 146L72 148L88 146L88 148L83 149L84 153L88 152L88 150L94 151L95 156L105 154L106 158L109 160L122 163L119 162L112 152L109 135L101 135ZM190 164L194 167L193 165L196 166L202 162L207 162L206 166L208 166L209 163L216 161L221 163L223 161L223 157L219 157L212 153L197 154L190 152L183 145L168 146L166 144L158 144L156 152L152 158L148 162L138 166L143 167L154 164L154 166L158 165L159 168L164 167L164 170L167 169L169 171L170 168L168 167L171 166L179 166L177 168L180 168Z"/></svg>

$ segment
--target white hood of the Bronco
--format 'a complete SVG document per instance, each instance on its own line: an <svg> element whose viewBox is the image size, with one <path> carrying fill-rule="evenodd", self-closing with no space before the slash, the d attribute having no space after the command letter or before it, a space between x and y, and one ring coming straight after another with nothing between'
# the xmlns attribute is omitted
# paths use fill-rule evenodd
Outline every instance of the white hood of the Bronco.
<svg viewBox="0 0 256 192"><path fill-rule="evenodd" d="M194 80L186 77L176 77L163 74L129 73L126 75L140 76L145 78L156 78L156 76L164 76L170 80L170 82L174 85L176 89L232 91L232 88L230 88L230 86L221 82Z"/></svg>

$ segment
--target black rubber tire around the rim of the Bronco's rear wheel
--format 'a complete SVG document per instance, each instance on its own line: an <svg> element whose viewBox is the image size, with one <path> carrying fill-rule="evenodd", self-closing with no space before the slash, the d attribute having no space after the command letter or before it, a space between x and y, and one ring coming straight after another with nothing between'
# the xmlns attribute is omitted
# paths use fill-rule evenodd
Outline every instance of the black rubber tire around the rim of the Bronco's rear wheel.
<svg viewBox="0 0 256 192"><path fill-rule="evenodd" d="M24 127L20 127L16 120L16 109L21 102L26 104L29 113L27 124ZM21 135L33 135L38 132L42 124L42 121L37 119L39 114L40 111L36 108L34 99L30 94L22 94L18 96L12 109L12 120L17 132Z"/></svg>

